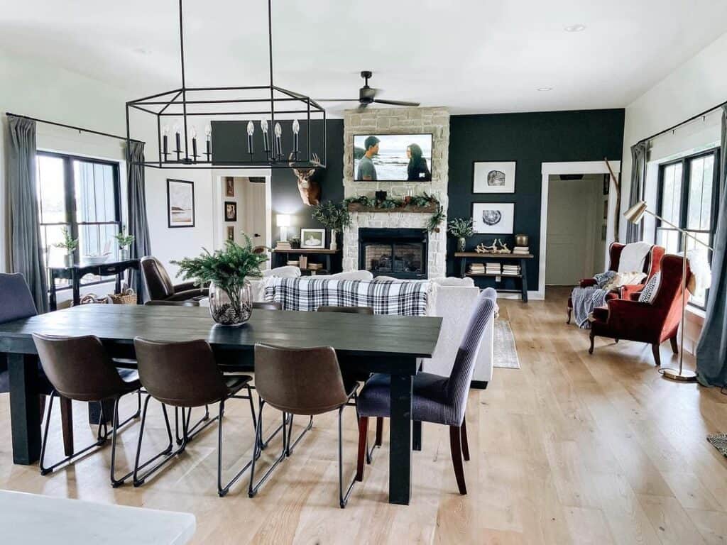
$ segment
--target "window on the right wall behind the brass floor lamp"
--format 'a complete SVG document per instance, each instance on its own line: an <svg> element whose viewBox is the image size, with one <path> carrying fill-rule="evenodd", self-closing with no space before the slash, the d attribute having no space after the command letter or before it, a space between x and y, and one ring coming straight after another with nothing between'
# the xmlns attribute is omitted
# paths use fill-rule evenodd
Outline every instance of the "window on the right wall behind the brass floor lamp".
<svg viewBox="0 0 727 545"><path fill-rule="evenodd" d="M659 216L712 246L718 203L719 149L708 150L659 166ZM670 254L683 251L678 230L656 221L656 243ZM686 250L703 246L687 238ZM711 259L711 256L710 256ZM704 308L706 290L692 294L691 304Z"/></svg>

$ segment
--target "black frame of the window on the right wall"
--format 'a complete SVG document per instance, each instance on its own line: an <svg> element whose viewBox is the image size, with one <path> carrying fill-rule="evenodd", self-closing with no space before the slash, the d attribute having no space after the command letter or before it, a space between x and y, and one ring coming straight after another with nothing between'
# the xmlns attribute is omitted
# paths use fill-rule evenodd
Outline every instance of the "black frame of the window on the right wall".
<svg viewBox="0 0 727 545"><path fill-rule="evenodd" d="M687 229L688 215L689 215L689 189L691 183L691 161L695 159L704 158L707 156L714 156L714 166L712 167L712 200L710 210L710 229ZM667 161L659 164L659 184L656 192L656 213L661 214L662 203L664 200L664 170L669 166L681 164L682 177L681 177L681 190L679 195L679 221L676 223L680 229L686 229L688 233L707 233L710 235L709 245L714 246L715 230L717 229L717 215L719 210L719 198L720 198L720 148L710 148L703 150L698 153L692 153L691 155L680 157L674 161ZM654 242L659 240L659 230L662 231L673 231L679 233L674 227L670 225L662 225L661 219L656 219L654 222ZM677 251L684 251L683 249L683 237L681 234L678 237L678 249ZM707 251L707 260L712 264L712 251ZM707 289L704 293L704 305L696 304L692 300L688 302L691 307L696 307L701 310L706 310L707 300L710 296L710 290Z"/></svg>

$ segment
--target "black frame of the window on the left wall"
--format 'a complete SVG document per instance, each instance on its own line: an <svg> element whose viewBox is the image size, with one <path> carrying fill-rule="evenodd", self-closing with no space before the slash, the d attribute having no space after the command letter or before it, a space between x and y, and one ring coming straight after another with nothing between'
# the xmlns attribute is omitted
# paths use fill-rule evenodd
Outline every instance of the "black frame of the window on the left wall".
<svg viewBox="0 0 727 545"><path fill-rule="evenodd" d="M63 160L63 192L65 200L65 222L42 222L42 210L41 210L41 195L38 195L38 212L39 212L39 227L45 229L45 227L53 226L64 226L68 227L73 238L79 238L79 226L84 225L116 225L117 233L121 233L123 227L121 221L121 180L120 180L120 166L118 161L108 161L105 159L97 159L91 157L76 156L71 153L57 153L55 151L44 151L38 150L36 153L38 157L52 157ZM81 161L84 163L100 164L105 166L111 166L113 174L113 210L116 221L113 222L79 222L78 211L76 210L76 177L73 171L73 161ZM38 173L39 174L39 173ZM39 179L39 183L40 179ZM47 240L47 235L46 235ZM76 248L73 251L73 261L78 263L80 260L79 249ZM46 263L46 265L48 265ZM52 278L49 277L49 283ZM95 286L96 284L107 283L111 280L101 278L100 280L92 280L90 282L81 281L81 286ZM56 291L63 291L71 289L72 286L57 286ZM50 289L50 286L49 286Z"/></svg>

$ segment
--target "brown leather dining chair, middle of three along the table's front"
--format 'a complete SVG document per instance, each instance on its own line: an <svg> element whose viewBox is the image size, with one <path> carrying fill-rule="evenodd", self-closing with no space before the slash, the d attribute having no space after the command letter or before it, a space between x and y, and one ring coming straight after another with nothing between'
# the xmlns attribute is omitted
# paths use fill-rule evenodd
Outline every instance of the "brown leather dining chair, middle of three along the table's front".
<svg viewBox="0 0 727 545"><path fill-rule="evenodd" d="M249 375L223 376L217 368L212 347L202 339L187 342L156 342L137 337L134 339L134 347L139 365L139 378L149 394L144 402L139 442L134 459L134 486L142 485L150 475L184 451L191 440L189 428L191 408L219 403L219 413L210 422L217 420L217 493L220 497L227 495L230 487L236 483L252 462L245 464L228 483L222 484L222 419L225 416L225 403L230 397L249 400L254 426L255 410L249 384L252 377ZM247 390L247 395L238 395L243 388ZM147 410L152 398L161 403L169 444L164 451L140 463ZM174 451L172 451L172 428L169 425L166 405L182 409L182 440ZM142 473L142 469L158 459L161 460Z"/></svg>

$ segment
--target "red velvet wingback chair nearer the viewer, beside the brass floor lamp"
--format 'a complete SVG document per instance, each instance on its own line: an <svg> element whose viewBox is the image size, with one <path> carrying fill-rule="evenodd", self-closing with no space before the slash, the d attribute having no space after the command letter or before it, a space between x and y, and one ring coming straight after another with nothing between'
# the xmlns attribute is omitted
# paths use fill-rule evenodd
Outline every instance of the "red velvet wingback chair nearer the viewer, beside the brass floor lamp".
<svg viewBox="0 0 727 545"><path fill-rule="evenodd" d="M672 350L678 353L677 331L682 315L682 257L666 255L662 258L662 278L656 297L651 303L638 301L638 293L630 299L611 299L606 307L593 311L591 323L589 354L593 354L593 339L596 336L611 339L647 342L654 352L656 366L661 366L659 344L667 339L672 342ZM689 265L686 267L687 285L691 278ZM686 292L685 304L689 300Z"/></svg>

